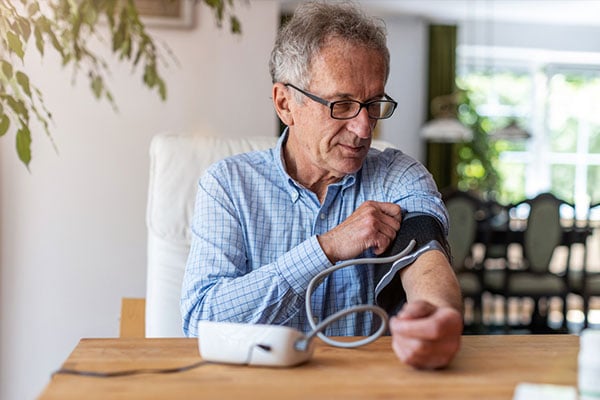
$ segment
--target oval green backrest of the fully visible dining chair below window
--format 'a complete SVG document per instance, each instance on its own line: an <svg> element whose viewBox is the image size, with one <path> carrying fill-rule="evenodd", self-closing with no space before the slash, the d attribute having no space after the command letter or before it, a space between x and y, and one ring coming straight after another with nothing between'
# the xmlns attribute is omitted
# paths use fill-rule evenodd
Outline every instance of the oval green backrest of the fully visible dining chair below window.
<svg viewBox="0 0 600 400"><path fill-rule="evenodd" d="M566 203L551 193L542 193L515 207L521 204L530 207L523 238L526 266L532 272L547 272L554 250L562 241L560 207Z"/></svg>

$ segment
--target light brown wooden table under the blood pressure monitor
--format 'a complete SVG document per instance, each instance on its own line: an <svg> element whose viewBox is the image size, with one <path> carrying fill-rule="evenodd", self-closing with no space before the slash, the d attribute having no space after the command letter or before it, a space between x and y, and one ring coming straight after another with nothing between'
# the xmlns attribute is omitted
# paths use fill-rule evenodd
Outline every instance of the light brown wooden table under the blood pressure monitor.
<svg viewBox="0 0 600 400"><path fill-rule="evenodd" d="M464 336L451 366L402 364L390 338L358 349L316 340L313 358L278 369L205 364L174 374L116 378L54 375L40 399L512 399L520 382L577 384L572 335ZM200 360L195 339L83 339L64 368L170 368Z"/></svg>

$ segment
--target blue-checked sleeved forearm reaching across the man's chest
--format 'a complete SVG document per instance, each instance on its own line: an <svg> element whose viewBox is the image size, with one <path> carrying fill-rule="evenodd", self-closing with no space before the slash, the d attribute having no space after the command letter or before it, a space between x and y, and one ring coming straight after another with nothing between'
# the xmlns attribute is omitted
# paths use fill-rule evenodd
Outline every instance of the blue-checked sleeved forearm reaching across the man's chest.
<svg viewBox="0 0 600 400"><path fill-rule="evenodd" d="M208 250L196 245L199 248L193 245L190 252L181 301L188 336L196 335L199 320L285 324L303 309L310 279L328 263L315 237L244 274L226 257L206 257ZM216 261L208 265L206 259Z"/></svg>

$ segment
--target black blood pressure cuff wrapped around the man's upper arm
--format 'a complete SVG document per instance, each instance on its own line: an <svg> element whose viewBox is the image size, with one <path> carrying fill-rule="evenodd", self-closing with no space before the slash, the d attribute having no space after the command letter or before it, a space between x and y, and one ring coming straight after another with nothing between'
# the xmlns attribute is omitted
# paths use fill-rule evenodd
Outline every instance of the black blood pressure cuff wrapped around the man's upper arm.
<svg viewBox="0 0 600 400"><path fill-rule="evenodd" d="M398 271L412 264L421 254L431 250L440 250L448 260L451 260L450 246L441 223L437 218L422 213L408 213L404 216L396 238L380 257L400 253L411 240L416 241L411 254L394 263L381 264L377 267L378 283L375 287L375 302L390 316L397 314L406 302L406 292L402 287Z"/></svg>

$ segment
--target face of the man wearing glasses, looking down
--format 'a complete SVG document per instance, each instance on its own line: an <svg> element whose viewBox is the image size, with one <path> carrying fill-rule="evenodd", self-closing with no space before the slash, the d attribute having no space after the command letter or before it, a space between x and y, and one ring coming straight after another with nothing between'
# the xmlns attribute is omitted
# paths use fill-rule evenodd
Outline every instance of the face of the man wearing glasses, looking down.
<svg viewBox="0 0 600 400"><path fill-rule="evenodd" d="M375 50L332 39L313 60L311 77L304 89L325 100L367 102L383 96L386 71ZM313 177L356 172L367 156L376 122L365 108L355 118L336 120L328 107L304 97L295 107L288 139L296 167Z"/></svg>

